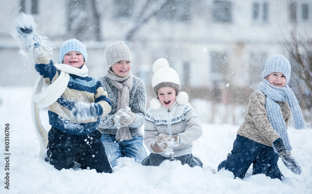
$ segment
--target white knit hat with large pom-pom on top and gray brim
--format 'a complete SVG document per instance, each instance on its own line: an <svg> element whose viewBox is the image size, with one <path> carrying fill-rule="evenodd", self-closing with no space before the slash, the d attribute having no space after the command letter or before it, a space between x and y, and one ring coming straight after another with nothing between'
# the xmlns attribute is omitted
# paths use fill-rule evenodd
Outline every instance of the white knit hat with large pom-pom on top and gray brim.
<svg viewBox="0 0 312 194"><path fill-rule="evenodd" d="M158 96L158 90L163 87L174 88L178 95L181 90L180 78L178 73L169 67L167 59L157 59L153 64L153 72L152 87L156 96Z"/></svg>

